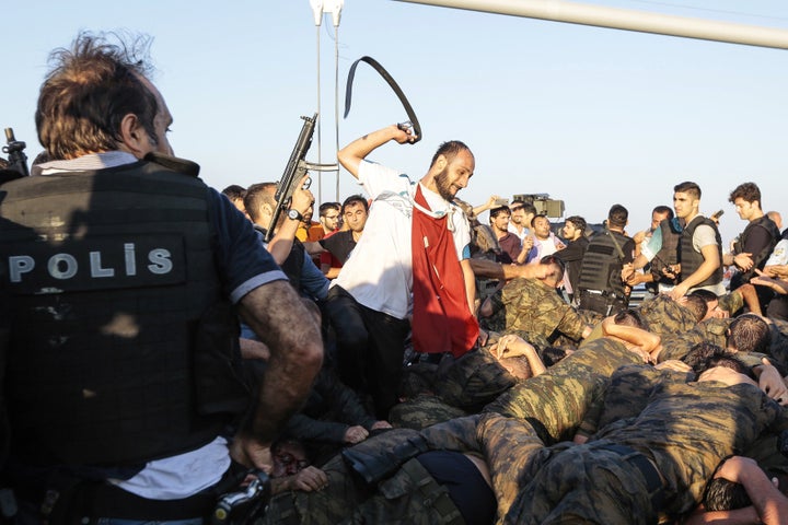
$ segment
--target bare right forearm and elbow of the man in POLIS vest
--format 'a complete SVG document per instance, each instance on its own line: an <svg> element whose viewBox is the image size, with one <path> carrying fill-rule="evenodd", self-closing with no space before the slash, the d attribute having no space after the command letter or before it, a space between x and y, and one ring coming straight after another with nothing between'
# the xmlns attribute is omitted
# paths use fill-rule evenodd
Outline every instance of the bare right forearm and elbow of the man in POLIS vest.
<svg viewBox="0 0 788 525"><path fill-rule="evenodd" d="M236 438L233 455L245 465L267 467L271 441L301 406L323 362L315 317L287 281L274 281L247 293L241 316L268 347L270 358L251 424ZM292 329L298 319L299 329Z"/></svg>

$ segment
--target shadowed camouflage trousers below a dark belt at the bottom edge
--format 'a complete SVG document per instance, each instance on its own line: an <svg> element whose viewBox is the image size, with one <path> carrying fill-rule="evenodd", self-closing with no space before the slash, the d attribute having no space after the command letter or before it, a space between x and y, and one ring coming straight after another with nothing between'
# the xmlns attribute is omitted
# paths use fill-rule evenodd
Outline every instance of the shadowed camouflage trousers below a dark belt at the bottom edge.
<svg viewBox="0 0 788 525"><path fill-rule="evenodd" d="M635 451L623 455L610 445L559 446L544 456L505 523L656 525L661 486L650 482L638 467L642 455Z"/></svg>

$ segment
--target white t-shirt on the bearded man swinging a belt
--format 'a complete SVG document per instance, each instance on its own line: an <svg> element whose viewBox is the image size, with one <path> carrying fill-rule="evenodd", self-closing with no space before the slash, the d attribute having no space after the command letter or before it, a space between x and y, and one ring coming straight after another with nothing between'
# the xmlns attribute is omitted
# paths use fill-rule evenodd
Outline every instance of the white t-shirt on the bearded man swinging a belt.
<svg viewBox="0 0 788 525"><path fill-rule="evenodd" d="M373 201L363 234L332 285L340 285L368 308L404 319L413 305L410 237L418 183L369 161L359 164L358 178ZM436 217L450 214L457 259L467 258L471 229L465 214L424 185L421 194Z"/></svg>

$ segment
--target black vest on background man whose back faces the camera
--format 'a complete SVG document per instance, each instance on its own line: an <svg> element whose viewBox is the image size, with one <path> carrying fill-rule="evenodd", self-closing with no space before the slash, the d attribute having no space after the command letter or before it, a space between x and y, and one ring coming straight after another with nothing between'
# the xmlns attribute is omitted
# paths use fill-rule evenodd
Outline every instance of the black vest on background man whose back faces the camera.
<svg viewBox="0 0 788 525"><path fill-rule="evenodd" d="M615 235L615 241L612 235ZM624 258L618 248L626 249L629 241L630 238L626 235L610 230L591 237L580 269L578 283L580 290L596 290L624 298L626 294L621 278ZM616 243L618 243L618 248L616 248Z"/></svg>

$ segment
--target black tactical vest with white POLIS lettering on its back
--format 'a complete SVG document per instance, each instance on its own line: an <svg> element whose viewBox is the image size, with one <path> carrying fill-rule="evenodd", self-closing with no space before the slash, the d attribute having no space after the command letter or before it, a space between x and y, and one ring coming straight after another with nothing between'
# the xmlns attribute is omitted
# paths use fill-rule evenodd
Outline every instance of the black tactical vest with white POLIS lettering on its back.
<svg viewBox="0 0 788 525"><path fill-rule="evenodd" d="M207 196L148 162L2 187L5 392L23 463L166 457L245 408Z"/></svg>

